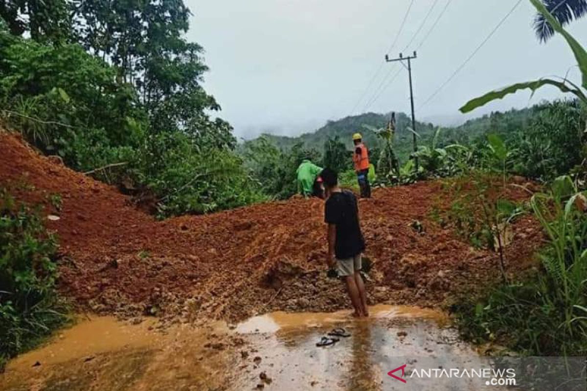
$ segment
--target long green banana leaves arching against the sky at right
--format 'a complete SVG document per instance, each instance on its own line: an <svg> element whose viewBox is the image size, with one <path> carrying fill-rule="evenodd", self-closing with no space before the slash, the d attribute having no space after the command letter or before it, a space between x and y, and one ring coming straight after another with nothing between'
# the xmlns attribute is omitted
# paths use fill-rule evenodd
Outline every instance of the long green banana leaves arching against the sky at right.
<svg viewBox="0 0 587 391"><path fill-rule="evenodd" d="M532 91L533 95L536 90L544 86L554 86L561 90L563 93L573 94L576 98L578 98L579 101L581 101L585 106L587 106L587 51L585 51L585 49L579 44L579 42L577 42L577 40L573 38L573 36L562 27L561 23L558 22L550 12L548 12L548 9L546 9L545 5L542 4L540 0L529 1L532 3L532 5L535 6L535 8L538 10L538 13L544 16L546 21L550 23L554 31L562 35L568 43L569 47L571 47L573 55L575 55L575 59L578 63L579 70L581 71L581 86L578 86L571 80L568 80L566 76L558 79L544 77L538 80L516 83L499 90L491 91L490 93L484 94L480 97L468 101L463 107L460 108L461 113L469 113L470 111L475 110L475 108L484 106L485 104L491 101L504 98L505 96L516 93L519 90L529 89Z"/></svg>

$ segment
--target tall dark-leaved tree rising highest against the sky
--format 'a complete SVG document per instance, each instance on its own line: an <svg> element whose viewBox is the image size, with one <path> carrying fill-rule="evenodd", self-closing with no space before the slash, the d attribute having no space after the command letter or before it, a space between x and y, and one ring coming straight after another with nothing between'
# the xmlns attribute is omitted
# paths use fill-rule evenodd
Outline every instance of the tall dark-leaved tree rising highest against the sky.
<svg viewBox="0 0 587 391"><path fill-rule="evenodd" d="M200 45L187 42L190 10L182 0L77 0L76 36L119 69L149 111L152 131L181 130L198 145L234 148L231 127L201 87L208 70Z"/></svg>

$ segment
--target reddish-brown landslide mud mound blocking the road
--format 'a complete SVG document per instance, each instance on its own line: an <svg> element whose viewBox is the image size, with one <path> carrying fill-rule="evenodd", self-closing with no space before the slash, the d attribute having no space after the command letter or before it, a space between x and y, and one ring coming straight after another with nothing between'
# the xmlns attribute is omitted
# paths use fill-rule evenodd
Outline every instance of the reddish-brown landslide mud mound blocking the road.
<svg viewBox="0 0 587 391"><path fill-rule="evenodd" d="M60 217L47 221L60 238L60 289L82 309L194 321L349 306L342 284L326 278L321 200L157 222L112 186L1 132L0 184ZM61 196L60 211L47 202L51 194ZM498 277L496 254L474 250L429 218L433 206L448 205L443 194L439 182L420 182L379 189L360 202L366 256L375 265L367 283L373 304L438 305ZM511 198L527 197L511 189ZM531 266L541 233L522 217L512 234L508 269L517 273Z"/></svg>

